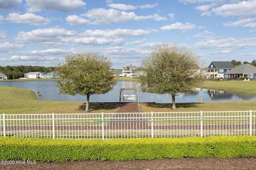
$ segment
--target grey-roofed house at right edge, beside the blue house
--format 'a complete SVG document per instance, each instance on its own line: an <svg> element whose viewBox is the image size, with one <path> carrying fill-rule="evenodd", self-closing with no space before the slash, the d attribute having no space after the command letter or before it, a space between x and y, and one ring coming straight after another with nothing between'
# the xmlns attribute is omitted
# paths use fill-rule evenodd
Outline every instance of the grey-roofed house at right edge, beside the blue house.
<svg viewBox="0 0 256 170"><path fill-rule="evenodd" d="M248 79L256 79L256 67L251 64L241 64L236 68L225 72L225 78L237 79L240 76Z"/></svg>

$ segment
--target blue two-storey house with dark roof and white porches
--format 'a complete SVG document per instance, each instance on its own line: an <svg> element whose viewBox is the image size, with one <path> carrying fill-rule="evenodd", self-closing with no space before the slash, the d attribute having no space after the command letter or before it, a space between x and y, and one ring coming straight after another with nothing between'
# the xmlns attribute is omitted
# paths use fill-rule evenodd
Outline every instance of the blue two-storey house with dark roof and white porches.
<svg viewBox="0 0 256 170"><path fill-rule="evenodd" d="M232 70L233 68L235 68L235 66L230 61L212 61L207 67L207 74L205 78L225 78L224 73Z"/></svg>

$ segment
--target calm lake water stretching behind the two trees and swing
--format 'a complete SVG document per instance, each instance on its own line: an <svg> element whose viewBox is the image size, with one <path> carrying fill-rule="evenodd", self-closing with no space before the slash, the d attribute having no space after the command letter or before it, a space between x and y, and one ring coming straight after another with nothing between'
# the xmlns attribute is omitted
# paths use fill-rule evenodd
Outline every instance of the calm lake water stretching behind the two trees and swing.
<svg viewBox="0 0 256 170"><path fill-rule="evenodd" d="M24 81L24 82L0 82L0 86L11 86L17 88L24 88L39 91L42 96L38 96L39 100L51 100L51 101L86 101L86 96L64 96L58 94L58 87L56 81ZM114 86L114 89L107 94L92 95L90 96L90 102L119 102L120 88L138 88L135 82L130 81L118 81L118 84ZM121 95L136 95L135 90L124 90ZM122 97L122 96L121 96ZM176 103L194 103L199 102L199 98L202 97L203 102L231 102L231 101L243 101L243 100L256 100L256 96L248 94L238 94L232 92L224 92L221 90L207 90L198 89L198 92L194 94L181 94L176 96ZM170 95L150 94L143 93L139 90L139 102L156 102L156 103L171 103L172 98Z"/></svg>

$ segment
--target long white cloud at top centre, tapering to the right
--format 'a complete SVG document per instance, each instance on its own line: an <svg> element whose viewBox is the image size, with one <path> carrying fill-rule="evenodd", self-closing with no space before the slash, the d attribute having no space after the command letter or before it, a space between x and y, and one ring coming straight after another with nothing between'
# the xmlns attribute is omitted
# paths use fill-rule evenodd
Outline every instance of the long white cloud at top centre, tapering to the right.
<svg viewBox="0 0 256 170"><path fill-rule="evenodd" d="M156 21L167 20L165 17L161 17L158 14L149 16L137 16L134 12L124 12L114 9L106 10L104 8L92 9L80 16L72 16L74 19L70 19L70 16L66 18L67 23L70 25L86 25L88 21L90 24L106 24L106 23L120 23L125 21L139 21L153 19ZM84 20L82 20L84 19ZM78 21L76 21L78 20Z"/></svg>

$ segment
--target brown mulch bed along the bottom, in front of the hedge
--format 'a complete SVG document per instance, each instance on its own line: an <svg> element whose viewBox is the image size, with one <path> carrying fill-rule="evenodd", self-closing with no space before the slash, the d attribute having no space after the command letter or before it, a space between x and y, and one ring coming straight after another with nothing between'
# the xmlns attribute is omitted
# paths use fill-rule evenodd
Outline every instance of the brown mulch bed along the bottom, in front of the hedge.
<svg viewBox="0 0 256 170"><path fill-rule="evenodd" d="M34 165L14 164L0 165L3 170L242 170L256 169L256 158L182 158L162 160L135 160L135 161L99 161L86 160L75 162L40 162Z"/></svg>

